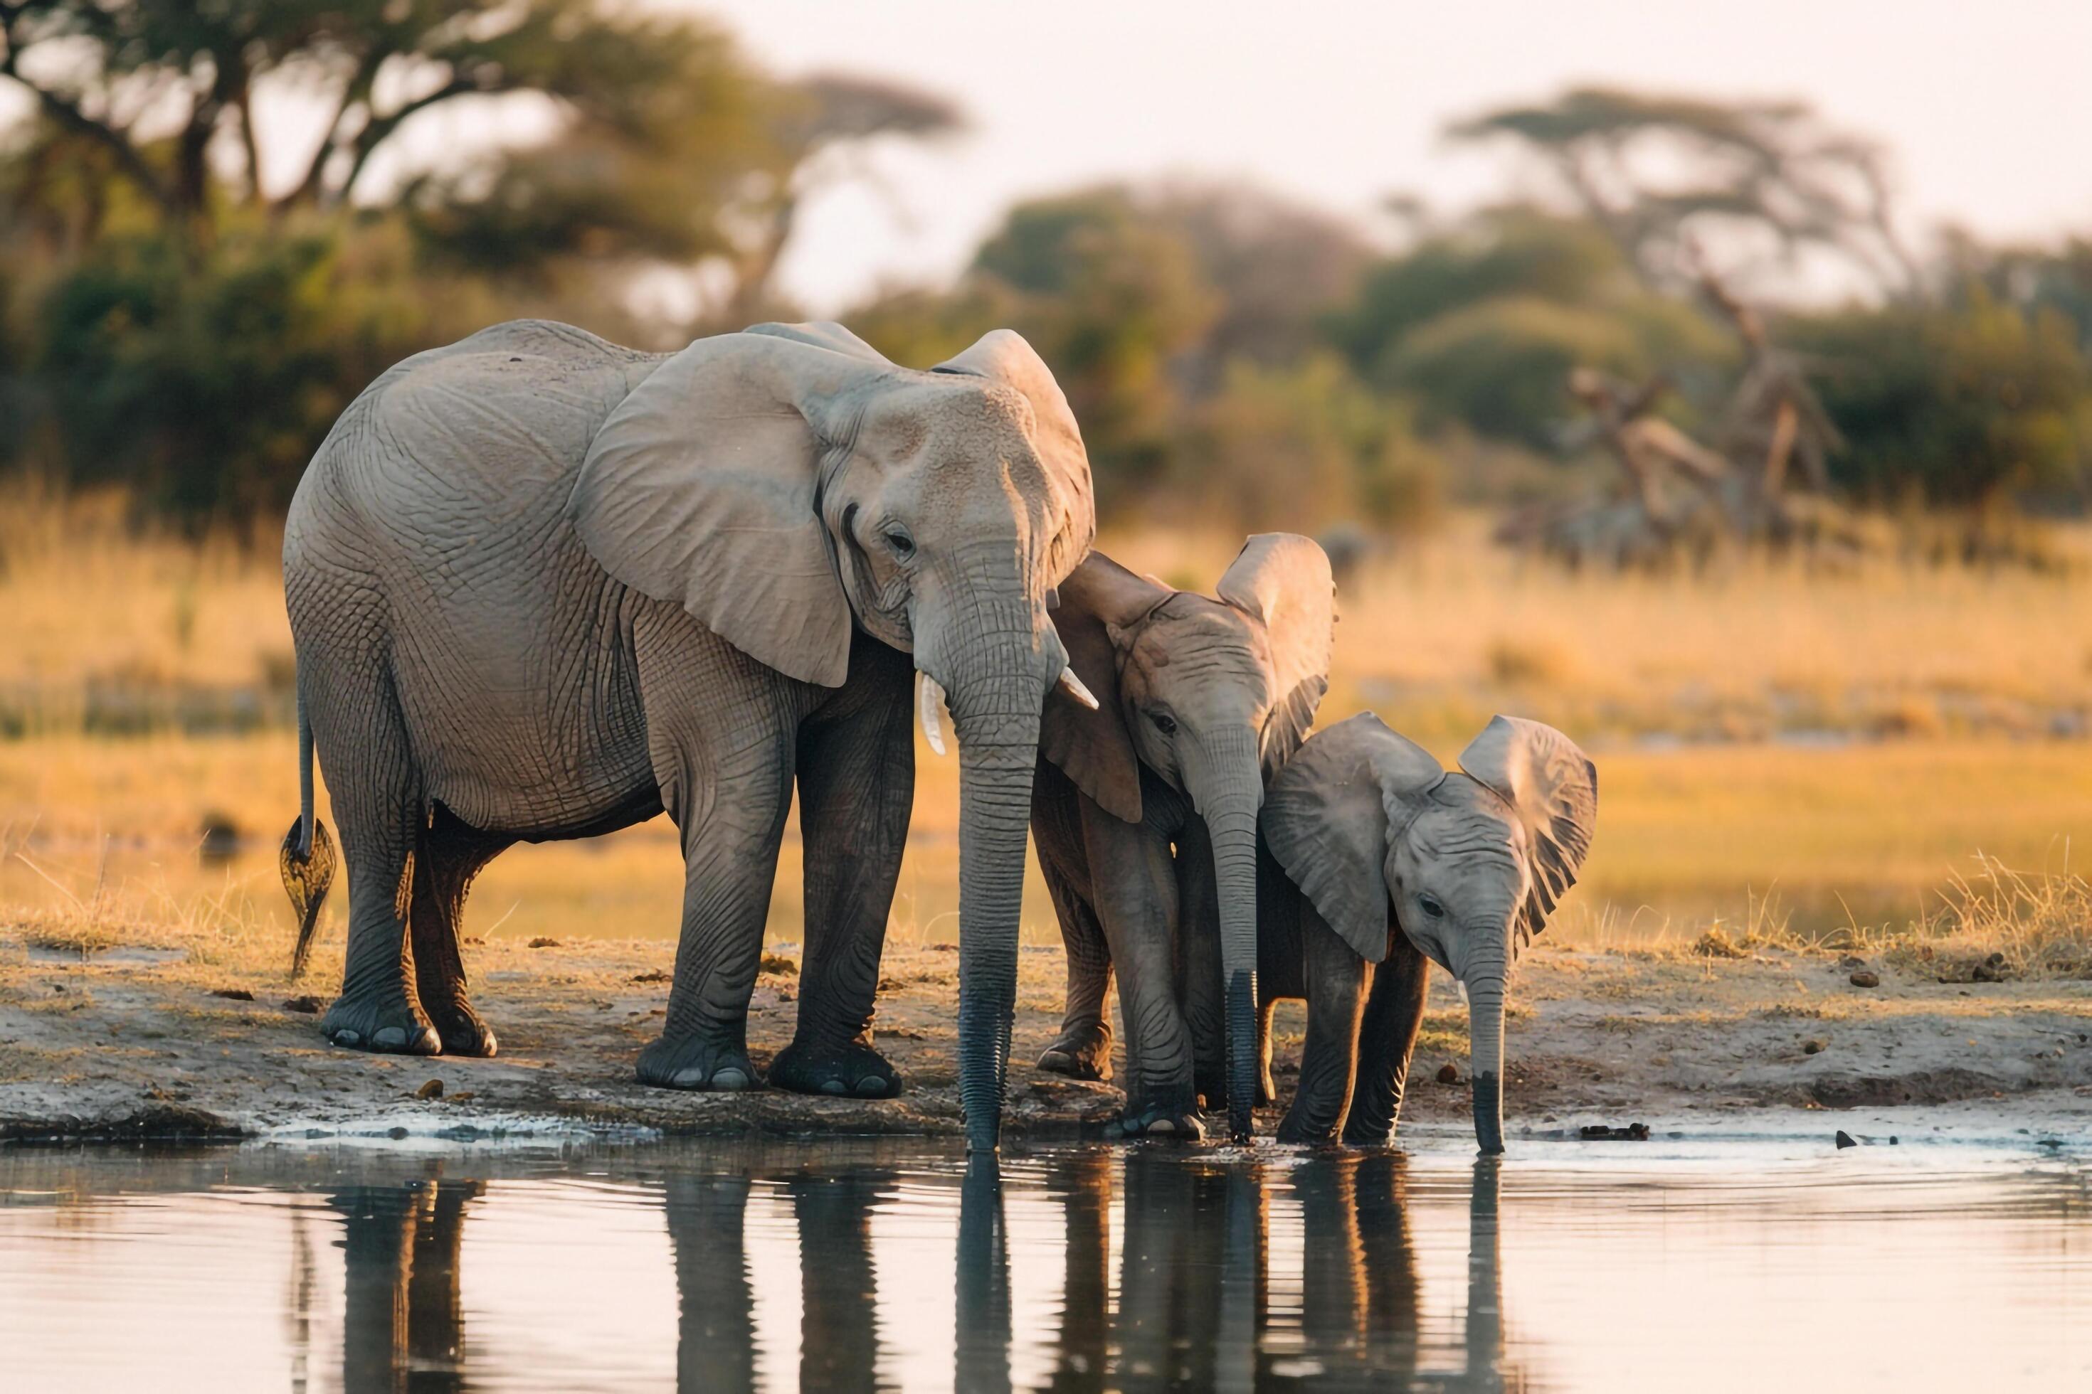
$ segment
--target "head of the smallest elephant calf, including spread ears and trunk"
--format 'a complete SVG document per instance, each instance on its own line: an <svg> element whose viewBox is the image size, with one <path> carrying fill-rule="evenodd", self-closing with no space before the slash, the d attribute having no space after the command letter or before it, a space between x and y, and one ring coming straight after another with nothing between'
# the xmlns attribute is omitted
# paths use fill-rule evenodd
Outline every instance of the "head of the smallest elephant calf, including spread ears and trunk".
<svg viewBox="0 0 2092 1394"><path fill-rule="evenodd" d="M1264 836L1366 961L1400 930L1469 1003L1475 1139L1504 1149L1504 978L1575 884L1598 769L1550 725L1496 717L1446 771L1372 713L1308 740L1272 780Z"/></svg>

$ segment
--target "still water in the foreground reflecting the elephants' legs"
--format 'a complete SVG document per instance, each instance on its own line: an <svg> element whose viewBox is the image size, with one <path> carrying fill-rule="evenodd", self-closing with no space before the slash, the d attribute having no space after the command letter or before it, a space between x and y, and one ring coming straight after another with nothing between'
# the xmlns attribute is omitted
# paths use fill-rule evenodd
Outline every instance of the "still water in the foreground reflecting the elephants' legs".
<svg viewBox="0 0 2092 1394"><path fill-rule="evenodd" d="M1450 1135L0 1149L0 1386L2092 1388L2092 1170Z"/></svg>

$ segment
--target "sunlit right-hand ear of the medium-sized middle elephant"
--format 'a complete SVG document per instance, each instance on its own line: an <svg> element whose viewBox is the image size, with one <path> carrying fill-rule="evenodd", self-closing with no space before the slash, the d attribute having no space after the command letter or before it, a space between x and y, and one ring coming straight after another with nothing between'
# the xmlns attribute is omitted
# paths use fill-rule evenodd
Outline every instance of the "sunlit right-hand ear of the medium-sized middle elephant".
<svg viewBox="0 0 2092 1394"><path fill-rule="evenodd" d="M1220 579L1218 596L1264 621L1276 692L1264 729L1264 773L1272 775L1308 740L1328 692L1337 640L1337 581L1328 556L1297 533L1257 533Z"/></svg>

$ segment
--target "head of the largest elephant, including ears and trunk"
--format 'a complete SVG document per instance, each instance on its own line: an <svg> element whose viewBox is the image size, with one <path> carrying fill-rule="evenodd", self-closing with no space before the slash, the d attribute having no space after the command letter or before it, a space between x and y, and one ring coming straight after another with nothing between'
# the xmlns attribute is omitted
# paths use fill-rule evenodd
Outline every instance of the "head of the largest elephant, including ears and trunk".
<svg viewBox="0 0 2092 1394"><path fill-rule="evenodd" d="M960 1099L994 1147L1040 704L1067 673L1048 604L1096 531L1046 364L1008 330L929 372L839 324L701 339L605 420L569 516L617 581L780 673L841 686L856 625L950 696Z"/></svg>

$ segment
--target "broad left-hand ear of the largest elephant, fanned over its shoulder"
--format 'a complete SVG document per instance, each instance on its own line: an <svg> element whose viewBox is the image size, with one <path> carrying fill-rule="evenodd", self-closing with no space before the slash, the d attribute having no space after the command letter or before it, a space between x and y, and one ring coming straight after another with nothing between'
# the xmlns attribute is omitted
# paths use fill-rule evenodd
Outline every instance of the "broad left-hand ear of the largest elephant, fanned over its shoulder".
<svg viewBox="0 0 2092 1394"><path fill-rule="evenodd" d="M893 372L835 332L761 326L676 353L602 422L567 504L613 577L826 688L849 671L849 600L816 510L822 426Z"/></svg>

